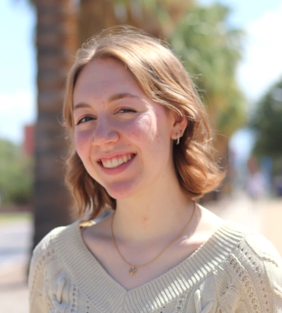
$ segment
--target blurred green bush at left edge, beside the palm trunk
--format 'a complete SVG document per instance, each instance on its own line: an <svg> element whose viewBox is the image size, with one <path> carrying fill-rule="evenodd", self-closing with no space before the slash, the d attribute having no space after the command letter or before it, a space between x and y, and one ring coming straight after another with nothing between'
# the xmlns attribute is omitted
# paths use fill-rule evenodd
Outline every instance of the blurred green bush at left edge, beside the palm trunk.
<svg viewBox="0 0 282 313"><path fill-rule="evenodd" d="M32 160L22 153L20 147L0 140L0 203L28 203L32 176Z"/></svg>

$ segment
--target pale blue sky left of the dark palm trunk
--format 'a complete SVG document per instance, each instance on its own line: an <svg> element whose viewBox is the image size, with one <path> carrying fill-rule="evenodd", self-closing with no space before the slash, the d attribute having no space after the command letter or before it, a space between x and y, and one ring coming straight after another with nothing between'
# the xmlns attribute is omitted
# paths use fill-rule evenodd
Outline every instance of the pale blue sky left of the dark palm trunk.
<svg viewBox="0 0 282 313"><path fill-rule="evenodd" d="M17 143L36 119L36 17L26 3L0 1L0 137Z"/></svg>

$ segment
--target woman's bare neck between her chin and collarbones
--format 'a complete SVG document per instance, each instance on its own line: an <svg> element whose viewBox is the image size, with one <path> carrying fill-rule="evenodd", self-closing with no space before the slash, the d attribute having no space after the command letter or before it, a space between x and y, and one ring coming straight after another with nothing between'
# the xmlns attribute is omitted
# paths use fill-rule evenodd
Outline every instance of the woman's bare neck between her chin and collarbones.
<svg viewBox="0 0 282 313"><path fill-rule="evenodd" d="M127 245L169 240L178 235L192 217L194 204L178 183L162 179L134 198L120 199L114 216L114 234Z"/></svg>

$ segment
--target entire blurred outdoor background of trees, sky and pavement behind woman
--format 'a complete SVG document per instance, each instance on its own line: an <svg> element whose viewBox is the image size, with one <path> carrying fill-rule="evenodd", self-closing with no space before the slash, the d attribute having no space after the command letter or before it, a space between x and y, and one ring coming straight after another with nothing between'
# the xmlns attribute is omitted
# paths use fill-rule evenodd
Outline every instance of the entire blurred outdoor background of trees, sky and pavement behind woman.
<svg viewBox="0 0 282 313"><path fill-rule="evenodd" d="M282 254L281 0L1 0L0 312L28 312L31 250L76 218L63 177L65 78L77 48L116 24L166 40L198 86L228 168L201 203Z"/></svg>

